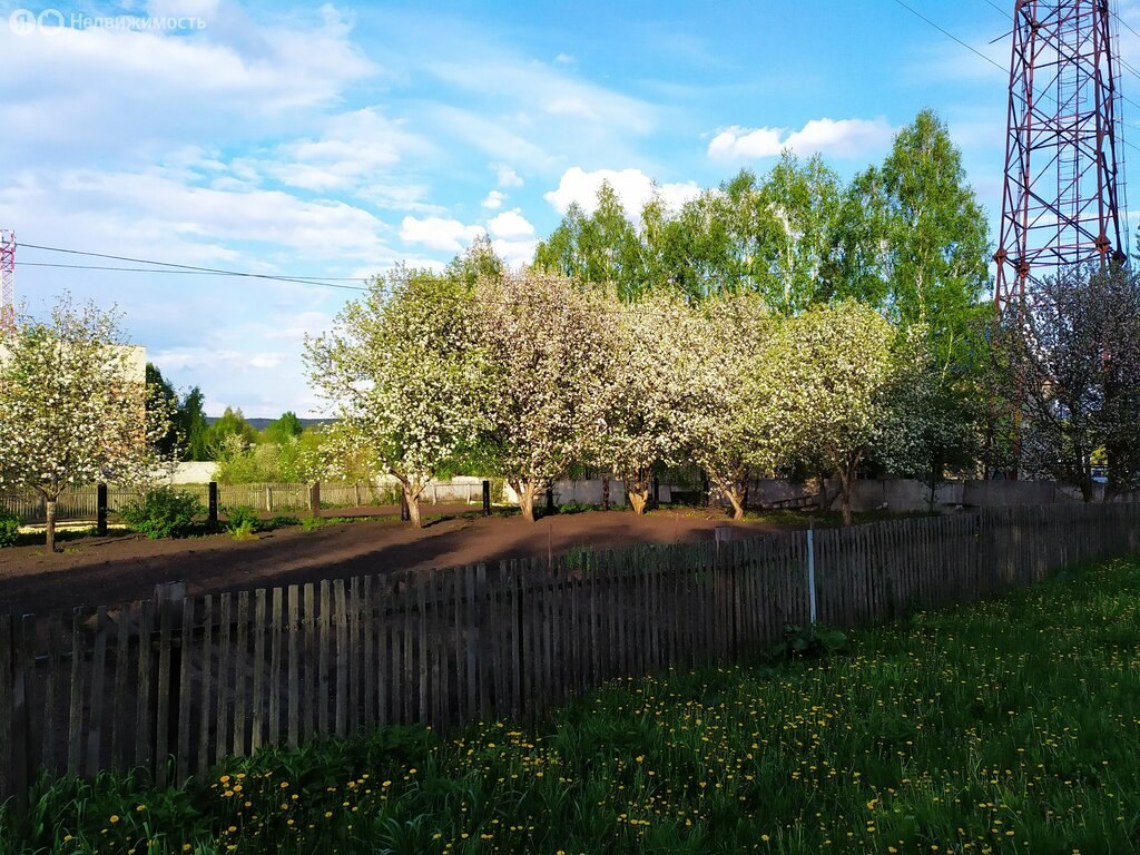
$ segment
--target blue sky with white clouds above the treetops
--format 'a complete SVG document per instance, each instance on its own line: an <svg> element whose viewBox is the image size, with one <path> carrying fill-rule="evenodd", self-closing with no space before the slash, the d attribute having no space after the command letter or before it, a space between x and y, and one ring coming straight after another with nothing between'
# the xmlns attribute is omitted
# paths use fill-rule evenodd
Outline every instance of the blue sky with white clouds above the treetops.
<svg viewBox="0 0 1140 855"><path fill-rule="evenodd" d="M23 245L18 298L117 304L211 414L309 415L303 336L353 292L25 267L132 266L26 245L366 277L446 262L486 231L519 262L603 177L636 207L651 180L679 203L763 173L783 146L849 176L923 107L995 225L1012 2L907 3L1001 67L896 0L0 3L0 227ZM18 8L59 15L24 27ZM1140 2L1115 8L1140 30ZM1140 39L1122 42L1140 65ZM1140 100L1140 79L1124 83Z"/></svg>

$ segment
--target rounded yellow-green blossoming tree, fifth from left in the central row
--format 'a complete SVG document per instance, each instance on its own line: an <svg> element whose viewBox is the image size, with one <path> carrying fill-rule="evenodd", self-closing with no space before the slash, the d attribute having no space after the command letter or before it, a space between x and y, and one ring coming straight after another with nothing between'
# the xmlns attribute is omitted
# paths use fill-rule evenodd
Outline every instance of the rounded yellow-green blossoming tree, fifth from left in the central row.
<svg viewBox="0 0 1140 855"><path fill-rule="evenodd" d="M817 307L780 327L760 370L774 434L836 474L845 526L852 523L858 467L871 454L886 459L901 451L910 435L894 418L895 339L895 328L870 307Z"/></svg>

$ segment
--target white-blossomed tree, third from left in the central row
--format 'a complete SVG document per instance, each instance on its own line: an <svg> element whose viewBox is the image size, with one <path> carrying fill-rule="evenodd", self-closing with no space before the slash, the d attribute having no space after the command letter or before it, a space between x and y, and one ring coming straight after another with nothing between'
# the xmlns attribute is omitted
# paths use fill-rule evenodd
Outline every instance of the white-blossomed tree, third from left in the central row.
<svg viewBox="0 0 1140 855"><path fill-rule="evenodd" d="M625 484L635 514L645 512L653 465L676 465L684 447L681 413L692 394L686 331L693 310L673 292L611 303L617 347L606 366L592 458Z"/></svg>

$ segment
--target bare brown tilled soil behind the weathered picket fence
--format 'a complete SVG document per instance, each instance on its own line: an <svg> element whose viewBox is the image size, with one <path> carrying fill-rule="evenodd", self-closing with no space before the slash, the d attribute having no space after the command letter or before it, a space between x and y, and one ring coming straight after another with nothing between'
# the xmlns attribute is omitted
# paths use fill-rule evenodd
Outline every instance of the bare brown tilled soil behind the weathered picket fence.
<svg viewBox="0 0 1140 855"><path fill-rule="evenodd" d="M386 516L393 508L326 513ZM0 613L132 602L149 597L155 585L180 580L188 584L190 595L197 595L546 555L581 546L711 539L714 528L726 523L733 526L734 537L777 530L705 511L658 511L645 516L589 511L536 523L521 516L481 518L462 505L429 507L425 515L429 524L418 530L376 519L311 531L290 527L255 540L225 534L182 540L119 535L64 542L65 552L55 555L43 546L11 547L0 551Z"/></svg>

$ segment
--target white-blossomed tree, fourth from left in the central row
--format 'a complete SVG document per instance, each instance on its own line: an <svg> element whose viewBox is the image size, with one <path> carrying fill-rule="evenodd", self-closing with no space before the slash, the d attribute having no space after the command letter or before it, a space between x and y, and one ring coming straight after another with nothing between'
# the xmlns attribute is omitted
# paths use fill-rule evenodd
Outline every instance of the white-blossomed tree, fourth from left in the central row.
<svg viewBox="0 0 1140 855"><path fill-rule="evenodd" d="M677 381L682 435L735 519L744 515L749 477L772 472L783 459L765 421L769 392L757 376L772 331L763 299L749 293L707 301L674 333L684 344Z"/></svg>

